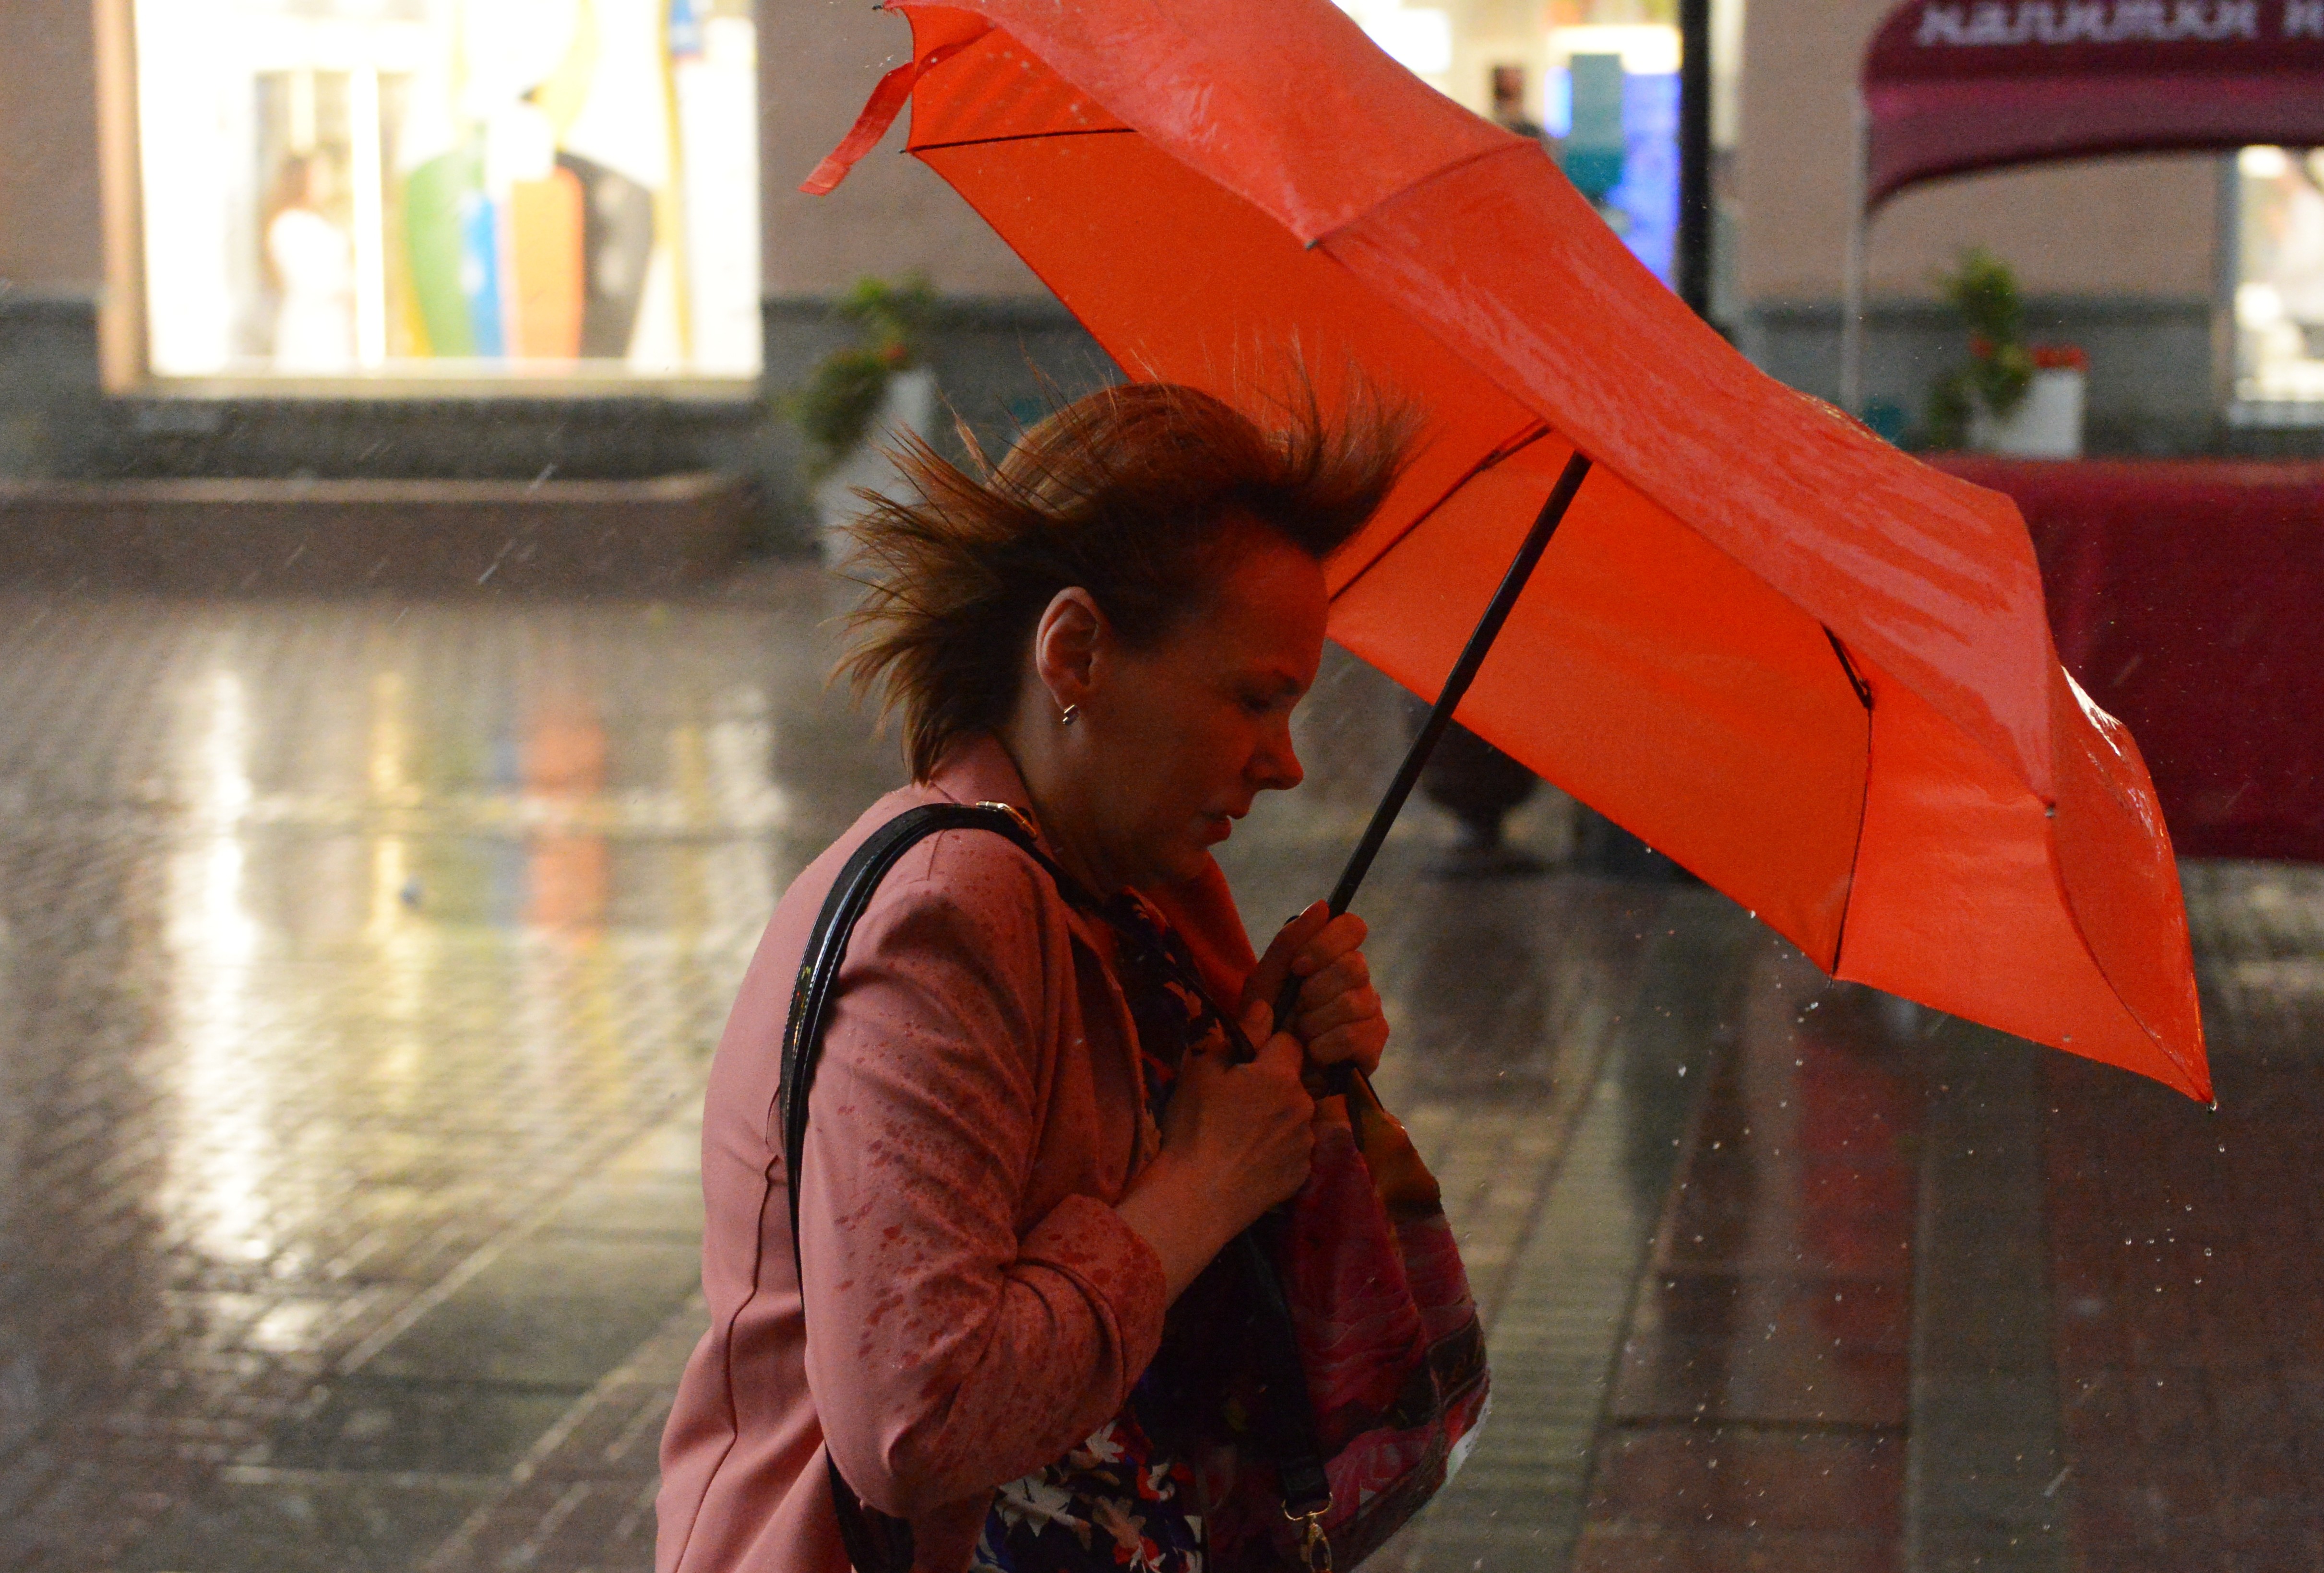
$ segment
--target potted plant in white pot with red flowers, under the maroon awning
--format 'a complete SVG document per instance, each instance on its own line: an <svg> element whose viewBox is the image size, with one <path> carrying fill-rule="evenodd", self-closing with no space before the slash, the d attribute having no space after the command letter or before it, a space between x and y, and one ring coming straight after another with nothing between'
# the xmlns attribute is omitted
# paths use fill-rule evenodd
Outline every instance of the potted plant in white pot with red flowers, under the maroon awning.
<svg viewBox="0 0 2324 1573"><path fill-rule="evenodd" d="M1968 365L1929 393L1929 441L2017 458L2080 458L2089 355L2027 344L2017 274L1992 251L1961 253L1938 290L1968 325Z"/></svg>

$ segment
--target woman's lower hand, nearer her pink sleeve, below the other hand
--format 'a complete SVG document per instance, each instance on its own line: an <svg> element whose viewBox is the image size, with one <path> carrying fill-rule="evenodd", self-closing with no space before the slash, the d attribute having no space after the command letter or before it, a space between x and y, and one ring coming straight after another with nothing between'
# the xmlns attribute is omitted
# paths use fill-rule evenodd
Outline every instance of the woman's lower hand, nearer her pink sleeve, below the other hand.
<svg viewBox="0 0 2324 1573"><path fill-rule="evenodd" d="M1171 1299L1260 1213L1306 1183L1315 1155L1315 1099L1299 1083L1299 1039L1269 1034L1274 1011L1243 1011L1243 1034L1260 1043L1250 1064L1190 1055L1162 1115L1155 1155L1116 1213L1155 1255Z"/></svg>

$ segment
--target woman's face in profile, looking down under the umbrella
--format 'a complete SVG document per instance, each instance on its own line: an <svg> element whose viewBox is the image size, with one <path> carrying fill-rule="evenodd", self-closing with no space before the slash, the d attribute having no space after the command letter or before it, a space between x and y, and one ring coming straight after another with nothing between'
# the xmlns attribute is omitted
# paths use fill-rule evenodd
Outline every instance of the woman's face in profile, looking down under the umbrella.
<svg viewBox="0 0 2324 1573"><path fill-rule="evenodd" d="M1325 611L1322 567L1253 527L1204 609L1153 648L1113 644L1076 739L1102 876L1192 878L1260 792L1299 785L1292 706L1315 683Z"/></svg>

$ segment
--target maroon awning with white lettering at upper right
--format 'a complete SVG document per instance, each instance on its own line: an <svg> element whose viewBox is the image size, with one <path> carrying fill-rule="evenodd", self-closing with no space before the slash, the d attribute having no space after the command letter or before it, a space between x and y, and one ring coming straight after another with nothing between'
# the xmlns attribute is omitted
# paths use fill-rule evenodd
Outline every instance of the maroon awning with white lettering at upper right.
<svg viewBox="0 0 2324 1573"><path fill-rule="evenodd" d="M1864 56L1873 209L2094 153L2324 144L2324 0L1908 0Z"/></svg>

